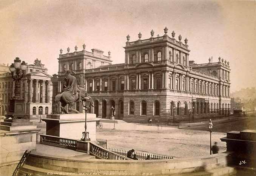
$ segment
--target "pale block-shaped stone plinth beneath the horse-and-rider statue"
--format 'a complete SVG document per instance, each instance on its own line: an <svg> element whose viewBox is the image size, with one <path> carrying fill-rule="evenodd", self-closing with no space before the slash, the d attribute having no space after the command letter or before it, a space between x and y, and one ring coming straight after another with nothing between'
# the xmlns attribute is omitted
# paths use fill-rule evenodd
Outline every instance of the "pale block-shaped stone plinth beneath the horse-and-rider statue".
<svg viewBox="0 0 256 176"><path fill-rule="evenodd" d="M86 122L89 138L96 141L96 114L87 113ZM46 119L46 135L80 140L85 131L85 114L51 114Z"/></svg>

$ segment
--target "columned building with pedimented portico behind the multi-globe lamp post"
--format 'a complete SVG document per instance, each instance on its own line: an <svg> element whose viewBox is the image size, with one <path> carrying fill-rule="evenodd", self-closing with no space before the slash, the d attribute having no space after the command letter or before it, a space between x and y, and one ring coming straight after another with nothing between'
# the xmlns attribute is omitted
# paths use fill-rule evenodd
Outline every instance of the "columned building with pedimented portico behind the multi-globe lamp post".
<svg viewBox="0 0 256 176"><path fill-rule="evenodd" d="M52 76L47 74L47 71L41 61L36 59L34 64L28 65L26 75L21 79L20 94L24 99L25 114L31 119L51 113ZM14 84L9 71L0 74L1 115L9 111L9 99L14 95Z"/></svg>

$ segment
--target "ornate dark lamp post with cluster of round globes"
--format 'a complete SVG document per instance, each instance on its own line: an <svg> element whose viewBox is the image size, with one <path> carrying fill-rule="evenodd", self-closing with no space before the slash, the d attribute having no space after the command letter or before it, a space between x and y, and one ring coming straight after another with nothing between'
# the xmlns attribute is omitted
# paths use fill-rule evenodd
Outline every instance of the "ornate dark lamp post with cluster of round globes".
<svg viewBox="0 0 256 176"><path fill-rule="evenodd" d="M14 59L14 63L11 64L9 67L9 70L11 71L11 74L12 74L12 79L15 81L14 96L12 97L12 99L10 99L10 106L9 106L10 107L9 112L11 112L10 116L12 116L12 118L16 118L15 114L20 115L20 117L18 118L25 116L24 109L15 108L15 105L20 104L20 107L23 107L22 105L24 103L24 100L20 96L20 80L22 79L23 76L25 76L26 69L27 69L27 65L25 61L21 61L20 58L18 57Z"/></svg>

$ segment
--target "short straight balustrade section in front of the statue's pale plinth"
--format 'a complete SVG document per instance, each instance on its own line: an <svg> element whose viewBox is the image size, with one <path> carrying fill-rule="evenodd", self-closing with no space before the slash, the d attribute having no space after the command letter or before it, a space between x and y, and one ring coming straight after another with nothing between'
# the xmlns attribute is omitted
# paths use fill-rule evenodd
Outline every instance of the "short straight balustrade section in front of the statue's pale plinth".
<svg viewBox="0 0 256 176"><path fill-rule="evenodd" d="M76 149L77 147L77 140L49 135L40 135L40 143L68 149Z"/></svg>

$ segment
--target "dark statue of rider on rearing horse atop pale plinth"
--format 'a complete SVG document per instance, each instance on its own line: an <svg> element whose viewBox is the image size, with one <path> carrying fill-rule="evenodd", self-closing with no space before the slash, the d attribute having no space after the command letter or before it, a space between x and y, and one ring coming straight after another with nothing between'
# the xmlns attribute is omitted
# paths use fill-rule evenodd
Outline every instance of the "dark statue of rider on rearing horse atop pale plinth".
<svg viewBox="0 0 256 176"><path fill-rule="evenodd" d="M72 70L68 70L64 78L63 90L61 94L55 96L53 103L52 114L57 114L58 103L60 102L60 108L65 114L79 113L76 109L73 109L73 105L76 102L89 101L89 107L93 106L93 101L89 94L85 91L85 76L80 74L77 78L71 73L75 73ZM68 112L64 107L68 105Z"/></svg>

